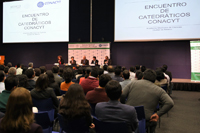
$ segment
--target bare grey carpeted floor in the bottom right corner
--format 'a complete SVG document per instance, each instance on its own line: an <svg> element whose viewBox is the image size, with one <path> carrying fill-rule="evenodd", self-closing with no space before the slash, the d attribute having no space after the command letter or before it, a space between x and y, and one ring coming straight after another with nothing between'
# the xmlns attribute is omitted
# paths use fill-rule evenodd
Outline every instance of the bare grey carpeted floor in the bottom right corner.
<svg viewBox="0 0 200 133"><path fill-rule="evenodd" d="M173 91L174 107L161 116L156 133L200 133L200 92Z"/></svg>

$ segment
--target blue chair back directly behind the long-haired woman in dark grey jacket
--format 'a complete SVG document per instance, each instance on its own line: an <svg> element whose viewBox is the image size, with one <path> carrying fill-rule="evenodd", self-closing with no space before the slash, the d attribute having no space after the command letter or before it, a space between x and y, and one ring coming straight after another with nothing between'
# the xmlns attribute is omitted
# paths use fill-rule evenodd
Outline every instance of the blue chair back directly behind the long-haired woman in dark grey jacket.
<svg viewBox="0 0 200 133"><path fill-rule="evenodd" d="M54 109L53 101L51 98L48 99L34 99L32 98L33 106L37 107L40 111L48 111Z"/></svg>

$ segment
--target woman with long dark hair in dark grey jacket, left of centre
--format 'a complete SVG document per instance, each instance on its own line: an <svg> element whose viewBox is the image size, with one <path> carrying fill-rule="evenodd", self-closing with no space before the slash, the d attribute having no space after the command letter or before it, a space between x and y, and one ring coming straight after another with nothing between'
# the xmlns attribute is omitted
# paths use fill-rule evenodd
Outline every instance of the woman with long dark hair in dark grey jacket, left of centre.
<svg viewBox="0 0 200 133"><path fill-rule="evenodd" d="M34 99L48 99L51 98L55 108L55 114L58 112L59 101L54 93L54 90L48 87L48 76L41 74L36 81L36 87L31 90L31 96Z"/></svg>

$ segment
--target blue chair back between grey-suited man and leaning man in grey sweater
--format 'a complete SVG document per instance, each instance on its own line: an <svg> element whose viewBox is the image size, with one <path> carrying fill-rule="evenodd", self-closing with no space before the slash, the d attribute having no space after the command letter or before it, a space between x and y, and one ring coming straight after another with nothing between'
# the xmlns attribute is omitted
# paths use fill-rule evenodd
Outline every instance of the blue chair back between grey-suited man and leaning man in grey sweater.
<svg viewBox="0 0 200 133"><path fill-rule="evenodd" d="M136 106L135 110L137 112L137 117L139 120L139 126L138 126L139 133L146 133L146 119L144 113L144 106Z"/></svg>

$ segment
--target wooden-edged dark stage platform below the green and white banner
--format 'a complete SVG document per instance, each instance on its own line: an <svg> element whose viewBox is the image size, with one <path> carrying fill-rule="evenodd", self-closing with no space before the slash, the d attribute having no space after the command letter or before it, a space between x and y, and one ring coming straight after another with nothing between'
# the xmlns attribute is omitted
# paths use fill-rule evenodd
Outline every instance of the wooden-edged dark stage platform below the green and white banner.
<svg viewBox="0 0 200 133"><path fill-rule="evenodd" d="M171 82L173 83L173 90L200 91L200 81L173 78Z"/></svg>

